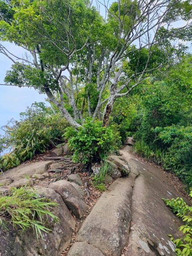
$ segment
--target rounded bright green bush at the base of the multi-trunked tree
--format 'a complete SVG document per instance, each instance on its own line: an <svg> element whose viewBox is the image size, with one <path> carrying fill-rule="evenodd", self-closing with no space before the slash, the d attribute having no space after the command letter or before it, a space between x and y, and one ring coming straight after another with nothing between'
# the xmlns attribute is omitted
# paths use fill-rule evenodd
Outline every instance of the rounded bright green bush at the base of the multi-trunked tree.
<svg viewBox="0 0 192 256"><path fill-rule="evenodd" d="M116 125L102 127L102 122L87 119L78 131L66 128L64 137L68 139L70 149L74 151L73 161L88 163L101 160L106 154L118 151L121 137Z"/></svg>

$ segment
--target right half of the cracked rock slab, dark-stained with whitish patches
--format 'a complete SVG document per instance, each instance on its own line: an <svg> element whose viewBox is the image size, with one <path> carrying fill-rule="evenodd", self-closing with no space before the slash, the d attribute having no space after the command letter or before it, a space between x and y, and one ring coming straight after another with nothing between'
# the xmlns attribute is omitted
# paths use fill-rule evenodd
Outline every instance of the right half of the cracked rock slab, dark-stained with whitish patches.
<svg viewBox="0 0 192 256"><path fill-rule="evenodd" d="M126 146L120 153L130 163L131 172L139 171L140 175L134 182L131 229L125 256L175 256L174 244L167 235L181 237L178 229L181 221L161 198L179 195L159 169L137 159L129 149Z"/></svg>

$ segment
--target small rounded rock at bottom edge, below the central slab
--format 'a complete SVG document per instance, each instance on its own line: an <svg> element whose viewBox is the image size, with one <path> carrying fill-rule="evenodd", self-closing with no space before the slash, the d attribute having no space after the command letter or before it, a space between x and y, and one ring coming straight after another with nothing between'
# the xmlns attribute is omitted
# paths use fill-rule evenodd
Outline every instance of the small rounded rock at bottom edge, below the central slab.
<svg viewBox="0 0 192 256"><path fill-rule="evenodd" d="M100 250L90 244L78 242L72 245L67 256L104 256Z"/></svg>

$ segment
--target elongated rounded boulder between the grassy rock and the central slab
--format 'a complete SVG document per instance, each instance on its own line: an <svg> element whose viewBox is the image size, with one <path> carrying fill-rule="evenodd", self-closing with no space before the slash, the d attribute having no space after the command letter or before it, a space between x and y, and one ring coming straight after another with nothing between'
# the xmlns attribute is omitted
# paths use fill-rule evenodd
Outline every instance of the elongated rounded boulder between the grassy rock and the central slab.
<svg viewBox="0 0 192 256"><path fill-rule="evenodd" d="M67 207L76 215L77 218L82 218L88 209L83 196L74 188L67 180L58 180L49 185L61 195Z"/></svg>

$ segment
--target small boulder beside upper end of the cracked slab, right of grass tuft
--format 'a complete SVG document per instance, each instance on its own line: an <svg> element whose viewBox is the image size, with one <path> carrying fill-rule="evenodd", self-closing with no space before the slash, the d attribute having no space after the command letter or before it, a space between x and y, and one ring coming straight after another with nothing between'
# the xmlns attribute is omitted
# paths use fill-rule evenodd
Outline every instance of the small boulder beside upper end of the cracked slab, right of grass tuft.
<svg viewBox="0 0 192 256"><path fill-rule="evenodd" d="M128 175L128 173L131 171L131 166L129 163L121 156L116 155L110 155L108 156L109 161L116 164L117 167L119 167L119 171L121 172L121 176Z"/></svg>

